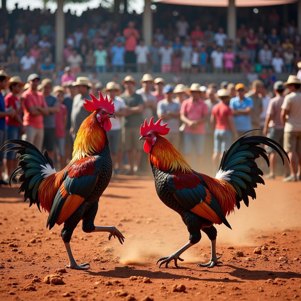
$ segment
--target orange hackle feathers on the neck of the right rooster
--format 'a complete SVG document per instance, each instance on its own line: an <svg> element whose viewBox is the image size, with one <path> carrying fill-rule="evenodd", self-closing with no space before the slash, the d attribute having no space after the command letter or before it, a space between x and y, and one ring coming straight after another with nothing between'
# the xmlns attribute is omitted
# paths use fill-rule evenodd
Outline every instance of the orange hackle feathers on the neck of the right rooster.
<svg viewBox="0 0 301 301"><path fill-rule="evenodd" d="M184 173L191 171L191 167L180 152L166 138L159 135L149 153L149 161L163 172L168 170L171 172L181 171Z"/></svg>

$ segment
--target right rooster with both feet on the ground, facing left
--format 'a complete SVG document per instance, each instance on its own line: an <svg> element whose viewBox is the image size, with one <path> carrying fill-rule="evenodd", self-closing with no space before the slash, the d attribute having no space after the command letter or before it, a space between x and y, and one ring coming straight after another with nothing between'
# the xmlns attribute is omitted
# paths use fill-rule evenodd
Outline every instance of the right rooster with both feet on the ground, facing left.
<svg viewBox="0 0 301 301"><path fill-rule="evenodd" d="M180 214L189 232L189 241L180 250L170 256L161 257L159 267L174 260L183 261L179 256L188 248L198 243L201 231L211 240L211 259L206 264L198 266L213 268L221 263L216 257L217 231L213 224L225 224L231 229L226 215L240 208L243 200L249 206L249 196L256 198L254 188L257 183L264 184L263 172L258 168L255 159L262 156L269 165L265 150L260 144L265 144L277 151L283 163L284 158L279 149L288 156L276 141L261 137L246 137L252 131L238 137L230 148L224 152L216 178L194 171L179 153L179 151L164 137L169 132L167 123L160 125L151 118L147 124L141 125L139 140L144 140L143 149L149 154L149 162L155 178L155 187L162 202ZM289 159L288 159L289 160Z"/></svg>

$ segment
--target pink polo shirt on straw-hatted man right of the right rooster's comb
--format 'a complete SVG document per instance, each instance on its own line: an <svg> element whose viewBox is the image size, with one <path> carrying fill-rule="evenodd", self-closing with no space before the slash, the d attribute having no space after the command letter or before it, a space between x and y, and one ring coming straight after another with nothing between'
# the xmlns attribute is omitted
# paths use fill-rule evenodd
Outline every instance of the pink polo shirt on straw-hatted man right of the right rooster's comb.
<svg viewBox="0 0 301 301"><path fill-rule="evenodd" d="M199 99L197 103L192 101L192 97L183 101L180 114L184 114L190 120L198 120L202 118L204 115L208 115L209 111L206 104ZM205 122L199 123L195 128L191 128L189 126L185 126L185 133L190 134L206 134L205 130Z"/></svg>

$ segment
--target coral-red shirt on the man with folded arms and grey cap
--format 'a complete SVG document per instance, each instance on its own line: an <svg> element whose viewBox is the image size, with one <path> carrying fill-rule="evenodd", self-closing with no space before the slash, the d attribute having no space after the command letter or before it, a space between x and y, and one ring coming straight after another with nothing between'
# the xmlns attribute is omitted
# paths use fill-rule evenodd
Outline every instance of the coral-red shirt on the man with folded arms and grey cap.
<svg viewBox="0 0 301 301"><path fill-rule="evenodd" d="M44 129L43 115L31 115L28 108L34 106L47 107L43 93L37 91L33 92L31 88L22 93L23 101L23 125L32 126L36 129Z"/></svg>

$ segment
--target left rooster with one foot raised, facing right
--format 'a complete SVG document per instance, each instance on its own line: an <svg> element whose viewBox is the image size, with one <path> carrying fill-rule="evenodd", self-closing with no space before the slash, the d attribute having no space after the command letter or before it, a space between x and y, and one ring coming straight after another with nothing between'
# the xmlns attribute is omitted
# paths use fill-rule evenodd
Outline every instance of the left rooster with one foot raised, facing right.
<svg viewBox="0 0 301 301"><path fill-rule="evenodd" d="M124 241L116 227L94 225L99 197L112 176L107 131L111 129L110 118L115 118L115 109L112 100L108 101L107 96L104 99L100 92L99 99L92 94L90 97L92 101L85 99L84 107L93 113L82 122L74 141L72 160L60 172L55 171L47 151L42 154L29 142L8 140L2 145L18 145L6 150L16 151L20 160L19 167L10 177L10 184L12 178L20 175L19 193L24 192L24 201L29 199L29 206L36 204L39 210L41 206L49 213L49 230L55 223L64 223L61 237L70 262L66 267L77 270L90 268L89 263L78 265L70 248L73 230L81 219L84 232L109 232L109 240L116 236L121 244Z"/></svg>

